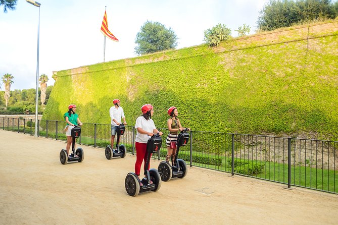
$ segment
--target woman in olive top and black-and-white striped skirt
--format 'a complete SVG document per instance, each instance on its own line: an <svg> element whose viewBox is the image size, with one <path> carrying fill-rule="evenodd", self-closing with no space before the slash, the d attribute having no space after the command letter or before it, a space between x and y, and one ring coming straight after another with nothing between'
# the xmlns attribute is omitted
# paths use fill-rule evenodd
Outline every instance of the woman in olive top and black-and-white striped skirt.
<svg viewBox="0 0 338 225"><path fill-rule="evenodd" d="M169 160L171 158L172 165L175 165L175 154L176 154L176 149L177 149L176 141L177 141L178 131L182 131L183 128L177 118L178 111L175 106L171 106L168 109L168 115L170 116L170 118L167 121L169 134L166 140L166 145L168 149L168 153L166 155L166 161L169 163Z"/></svg>

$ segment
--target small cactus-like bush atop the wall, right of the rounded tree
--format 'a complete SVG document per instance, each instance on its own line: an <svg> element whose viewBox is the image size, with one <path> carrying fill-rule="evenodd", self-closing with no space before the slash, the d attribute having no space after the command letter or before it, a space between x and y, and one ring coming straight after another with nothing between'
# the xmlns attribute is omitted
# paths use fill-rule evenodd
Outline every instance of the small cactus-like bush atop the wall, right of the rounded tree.
<svg viewBox="0 0 338 225"><path fill-rule="evenodd" d="M218 46L219 42L228 40L231 38L231 29L227 28L226 25L220 23L211 29L204 31L204 41L210 46Z"/></svg>

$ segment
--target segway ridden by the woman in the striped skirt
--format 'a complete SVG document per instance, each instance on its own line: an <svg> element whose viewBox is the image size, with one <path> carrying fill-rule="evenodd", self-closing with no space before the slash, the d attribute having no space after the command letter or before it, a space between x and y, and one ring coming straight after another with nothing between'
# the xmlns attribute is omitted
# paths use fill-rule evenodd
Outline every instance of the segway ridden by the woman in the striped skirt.
<svg viewBox="0 0 338 225"><path fill-rule="evenodd" d="M169 181L171 178L184 178L187 174L186 164L183 159L177 158L179 147L185 146L189 141L188 129L184 128L177 136L177 150L175 155L175 161L173 165L170 165L167 161L162 161L159 164L157 170L160 173L162 181Z"/></svg>

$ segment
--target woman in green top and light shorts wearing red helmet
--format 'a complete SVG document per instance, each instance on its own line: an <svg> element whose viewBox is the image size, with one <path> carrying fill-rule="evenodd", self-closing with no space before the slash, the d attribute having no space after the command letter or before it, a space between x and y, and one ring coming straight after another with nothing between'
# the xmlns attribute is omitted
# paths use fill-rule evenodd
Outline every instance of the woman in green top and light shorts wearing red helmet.
<svg viewBox="0 0 338 225"><path fill-rule="evenodd" d="M65 127L65 131L66 131L66 136L67 136L67 146L66 146L66 150L67 150L67 154L69 155L69 149L70 146L72 144L73 141L73 137L71 135L71 131L75 126L82 126L82 123L79 119L79 116L75 113L76 112L76 105L71 104L68 106L68 112L65 113L64 118L66 120L66 127ZM75 149L75 146L74 146ZM71 155L69 155L69 157L79 157L78 155L74 155L74 153L72 153Z"/></svg>

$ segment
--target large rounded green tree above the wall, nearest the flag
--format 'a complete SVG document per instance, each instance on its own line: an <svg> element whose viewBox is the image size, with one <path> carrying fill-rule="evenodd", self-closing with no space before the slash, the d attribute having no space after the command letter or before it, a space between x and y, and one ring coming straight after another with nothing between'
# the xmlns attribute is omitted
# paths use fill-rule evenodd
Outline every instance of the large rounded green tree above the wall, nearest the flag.
<svg viewBox="0 0 338 225"><path fill-rule="evenodd" d="M171 28L167 29L159 22L147 21L136 34L135 43L137 44L135 47L137 54L148 54L175 49L177 36Z"/></svg>

